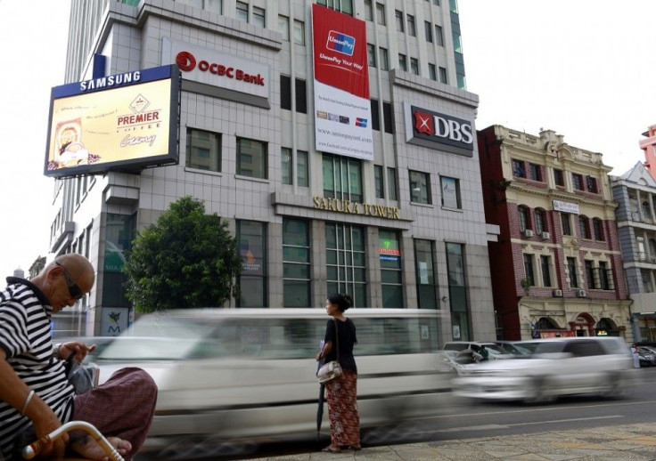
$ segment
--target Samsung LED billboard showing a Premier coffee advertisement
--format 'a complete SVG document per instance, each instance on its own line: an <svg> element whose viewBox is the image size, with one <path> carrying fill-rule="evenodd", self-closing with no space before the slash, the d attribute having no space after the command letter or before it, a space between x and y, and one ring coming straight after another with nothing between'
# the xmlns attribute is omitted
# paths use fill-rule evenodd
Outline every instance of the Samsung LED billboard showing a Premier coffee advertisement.
<svg viewBox="0 0 656 461"><path fill-rule="evenodd" d="M55 86L44 174L177 163L179 80L171 65Z"/></svg>

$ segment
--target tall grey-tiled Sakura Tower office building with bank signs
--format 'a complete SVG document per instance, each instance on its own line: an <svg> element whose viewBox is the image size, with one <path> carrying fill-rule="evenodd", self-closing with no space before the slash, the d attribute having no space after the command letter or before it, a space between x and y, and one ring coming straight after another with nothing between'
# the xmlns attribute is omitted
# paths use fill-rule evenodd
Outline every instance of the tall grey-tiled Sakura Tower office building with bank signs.
<svg viewBox="0 0 656 461"><path fill-rule="evenodd" d="M496 235L455 1L317 3L73 2L67 81L98 74L99 54L104 75L177 63L182 84L177 165L58 181L53 253L85 254L97 268L71 325L105 335L125 326L124 251L191 195L231 223L248 260L242 297L225 307L320 307L340 291L356 307L443 310L445 341L494 336ZM313 78L312 11L326 7L365 31L371 120L357 126L373 128L368 158L316 148L317 120L332 117L316 109ZM257 77L236 85L226 63Z"/></svg>

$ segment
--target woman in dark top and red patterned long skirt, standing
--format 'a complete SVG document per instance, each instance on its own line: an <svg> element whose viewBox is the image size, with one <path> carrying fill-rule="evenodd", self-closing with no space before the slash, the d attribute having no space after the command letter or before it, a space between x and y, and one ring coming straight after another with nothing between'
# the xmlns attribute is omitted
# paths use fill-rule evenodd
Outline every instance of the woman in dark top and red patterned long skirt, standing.
<svg viewBox="0 0 656 461"><path fill-rule="evenodd" d="M343 374L325 383L331 444L322 451L339 453L341 447L360 449L360 416L357 412L357 367L353 346L357 344L356 326L344 316L351 306L349 295L329 295L325 311L332 317L325 328L324 349L316 360L339 360Z"/></svg>

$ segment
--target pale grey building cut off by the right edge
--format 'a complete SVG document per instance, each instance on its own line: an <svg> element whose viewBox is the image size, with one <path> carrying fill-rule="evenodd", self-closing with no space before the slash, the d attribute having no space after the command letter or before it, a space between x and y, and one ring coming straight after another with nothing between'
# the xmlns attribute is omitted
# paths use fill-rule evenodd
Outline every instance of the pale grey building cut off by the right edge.
<svg viewBox="0 0 656 461"><path fill-rule="evenodd" d="M653 149L653 148L652 148ZM646 153L646 152L645 152ZM645 158L649 159L648 155ZM635 341L656 341L656 180L638 162L611 176Z"/></svg>

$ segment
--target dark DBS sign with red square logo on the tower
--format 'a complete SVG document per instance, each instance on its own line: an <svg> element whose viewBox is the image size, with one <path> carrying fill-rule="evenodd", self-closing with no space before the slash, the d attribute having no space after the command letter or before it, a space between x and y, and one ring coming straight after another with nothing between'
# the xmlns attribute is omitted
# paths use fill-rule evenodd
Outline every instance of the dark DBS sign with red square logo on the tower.
<svg viewBox="0 0 656 461"><path fill-rule="evenodd" d="M407 142L473 156L475 133L470 121L407 103L405 109Z"/></svg>

